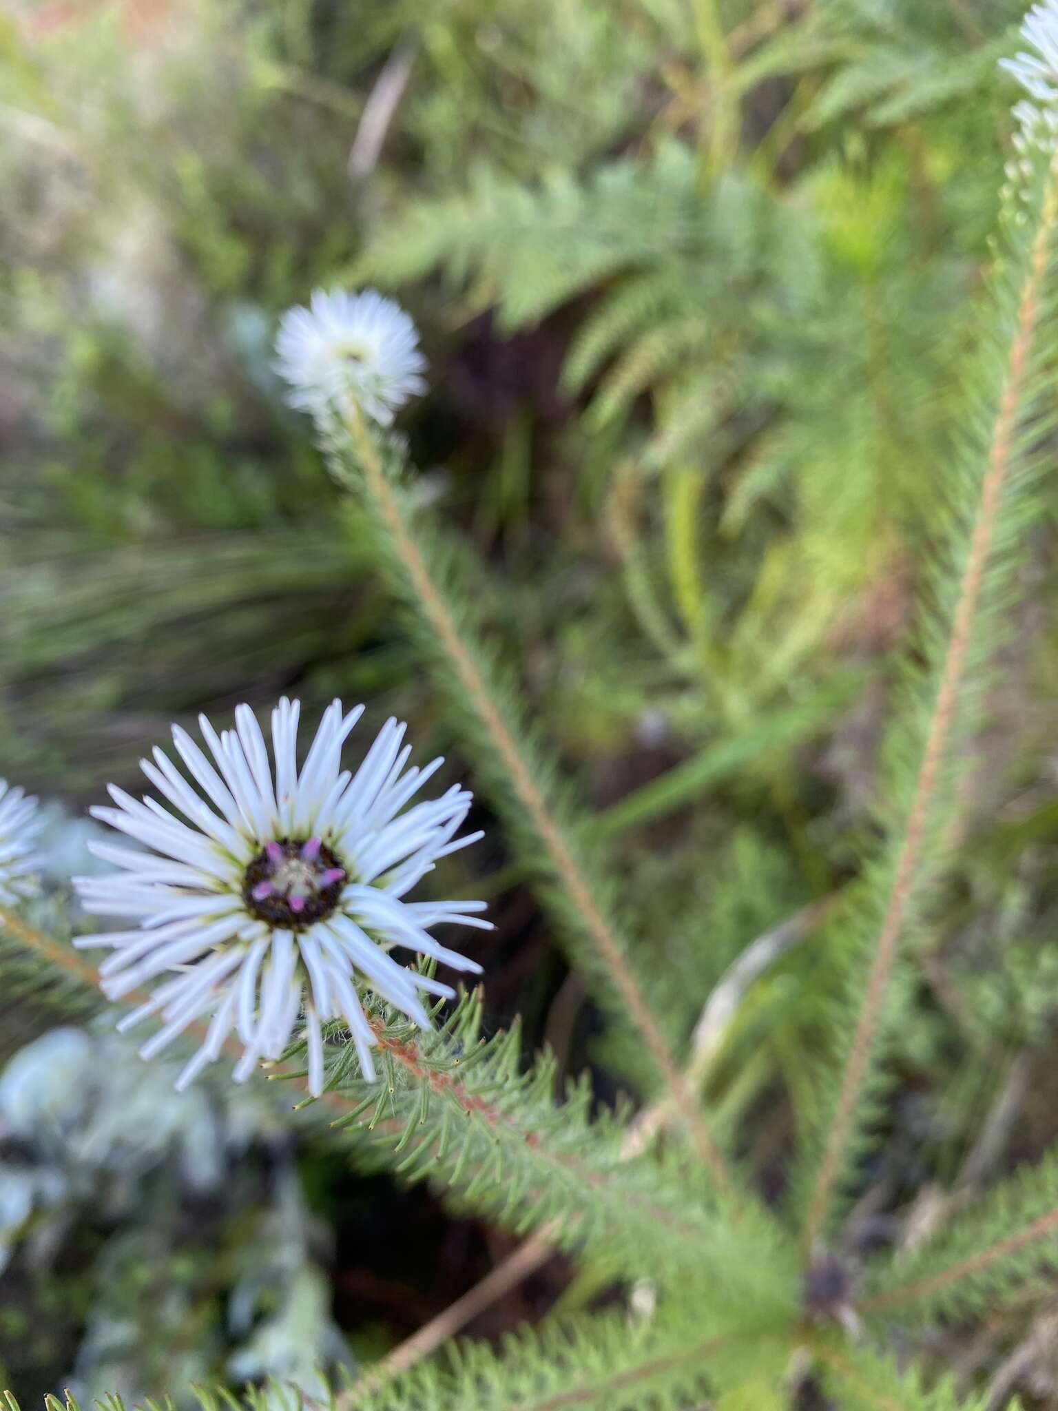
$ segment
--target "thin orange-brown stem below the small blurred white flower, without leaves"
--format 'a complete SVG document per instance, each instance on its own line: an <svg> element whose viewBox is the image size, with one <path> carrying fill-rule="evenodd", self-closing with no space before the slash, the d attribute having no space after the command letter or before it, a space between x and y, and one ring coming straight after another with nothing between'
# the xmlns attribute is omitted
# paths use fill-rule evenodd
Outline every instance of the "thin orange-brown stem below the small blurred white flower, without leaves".
<svg viewBox="0 0 1058 1411"><path fill-rule="evenodd" d="M563 837L563 831L545 801L545 797L532 776L518 745L504 722L495 706L487 682L482 679L467 650L458 628L444 602L442 593L430 577L430 571L423 560L419 546L409 529L402 505L394 492L389 480L382 468L375 444L364 425L363 416L355 408L350 412L348 420L353 437L360 456L364 484L367 492L375 502L378 514L385 523L394 547L401 559L415 597L426 615L430 626L437 635L442 650L451 663L463 684L467 698L481 721L484 731L492 742L494 749L504 762L504 768L513 785L515 793L533 823L547 855L560 878L573 906L580 914L584 930L604 959L616 989L624 999L628 1012L639 1030L647 1051L653 1057L662 1077L669 1086L673 1101L690 1132L693 1133L698 1153L708 1167L717 1185L729 1197L735 1198L735 1185L728 1173L726 1163L715 1146L705 1122L691 1096L691 1089L673 1057L662 1030L650 1012L650 1006L643 998L639 985L632 975L621 947L609 928L600 906L592 896L591 888L584 879L570 847Z"/></svg>

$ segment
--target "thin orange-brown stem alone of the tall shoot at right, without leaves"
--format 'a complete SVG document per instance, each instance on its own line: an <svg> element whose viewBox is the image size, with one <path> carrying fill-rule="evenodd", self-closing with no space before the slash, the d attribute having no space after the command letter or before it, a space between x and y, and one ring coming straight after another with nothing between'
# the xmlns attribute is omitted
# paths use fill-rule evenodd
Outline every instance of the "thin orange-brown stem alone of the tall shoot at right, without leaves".
<svg viewBox="0 0 1058 1411"><path fill-rule="evenodd" d="M1051 185L1041 212L1040 230L1033 246L1028 275L1019 302L1016 333L1010 346L1006 381L992 433L987 471L980 487L969 555L952 615L944 667L925 735L914 796L900 844L893 886L875 947L875 959L861 1005L849 1060L842 1077L834 1122L827 1137L808 1206L804 1233L804 1245L808 1250L815 1245L827 1223L842 1156L852 1133L856 1105L875 1040L877 1038L889 979L896 962L908 904L918 879L932 800L951 737L959 690L963 683L966 656L973 636L985 571L996 531L996 518L1013 459L1014 432L1024 394L1028 354L1040 315L1040 296L1047 272L1048 247L1054 234L1055 220L1058 219L1058 198L1055 196L1054 176L1055 169L1052 166Z"/></svg>

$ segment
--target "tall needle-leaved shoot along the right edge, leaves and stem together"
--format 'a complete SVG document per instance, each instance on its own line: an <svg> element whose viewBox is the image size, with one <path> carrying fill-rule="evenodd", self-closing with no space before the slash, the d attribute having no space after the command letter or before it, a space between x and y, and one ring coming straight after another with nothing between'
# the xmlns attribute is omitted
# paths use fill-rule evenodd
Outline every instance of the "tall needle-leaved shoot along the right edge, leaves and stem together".
<svg viewBox="0 0 1058 1411"><path fill-rule="evenodd" d="M1042 119L1040 119L1042 124ZM1006 244L982 308L980 343L968 377L958 443L941 467L945 516L928 562L924 615L901 710L886 749L880 790L884 841L865 869L849 920L848 1007L835 1017L841 1055L825 1099L822 1151L807 1235L825 1229L835 1188L848 1180L862 1133L877 1113L879 1037L894 1017L900 943L921 919L923 892L940 861L954 758L980 720L982 684L1033 494L1050 468L1050 380L1058 364L1054 261L1058 164L1050 143L1026 147L1026 172L1007 192Z"/></svg>

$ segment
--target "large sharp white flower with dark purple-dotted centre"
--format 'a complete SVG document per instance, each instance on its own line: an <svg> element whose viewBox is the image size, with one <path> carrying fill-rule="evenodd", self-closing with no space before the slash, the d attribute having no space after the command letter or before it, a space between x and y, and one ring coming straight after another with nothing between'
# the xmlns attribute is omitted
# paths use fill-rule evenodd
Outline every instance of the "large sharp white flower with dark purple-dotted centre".
<svg viewBox="0 0 1058 1411"><path fill-rule="evenodd" d="M103 992L123 999L166 978L127 1015L130 1029L161 1012L164 1027L140 1050L150 1058L196 1020L206 1037L181 1072L186 1085L220 1055L234 1029L245 1081L260 1058L278 1058L305 1002L309 1091L323 1091L320 1020L348 1024L365 1078L374 1078L377 1041L353 985L354 972L423 1029L430 1020L419 991L453 991L399 965L388 951L406 947L460 971L481 967L444 950L427 928L458 921L491 928L474 913L484 902L405 902L437 858L480 832L453 841L471 796L457 785L440 799L405 806L440 766L408 769L405 727L387 721L355 773L341 769L341 745L363 706L332 701L298 773L298 701L272 711L275 773L248 706L236 729L216 731L199 717L213 762L174 725L176 753L206 800L158 748L140 765L158 793L142 803L110 787L116 809L92 813L152 852L90 842L121 871L75 878L87 912L131 919L131 928L83 935L79 947L113 947L100 965ZM210 807L212 806L212 807ZM402 811L405 810L405 811ZM185 821L186 820L186 821ZM306 995L308 991L308 995Z"/></svg>

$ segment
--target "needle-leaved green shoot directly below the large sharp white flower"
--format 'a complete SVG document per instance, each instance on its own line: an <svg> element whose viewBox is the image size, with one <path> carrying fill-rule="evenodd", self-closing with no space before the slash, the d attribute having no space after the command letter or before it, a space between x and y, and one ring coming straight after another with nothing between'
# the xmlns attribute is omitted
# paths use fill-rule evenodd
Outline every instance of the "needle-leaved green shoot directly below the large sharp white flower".
<svg viewBox="0 0 1058 1411"><path fill-rule="evenodd" d="M774 1276L786 1263L794 1283L789 1242L770 1218L746 1211L732 1223L700 1173L674 1158L628 1160L622 1123L592 1120L585 1082L556 1103L553 1061L523 1070L518 1029L485 1038L481 1019L471 995L434 1034L388 1023L377 1084L347 1075L351 1050L339 1058L329 1096L347 1115L333 1126L358 1165L429 1180L516 1233L546 1225L557 1245L624 1274L715 1270L732 1305L746 1266Z"/></svg>

